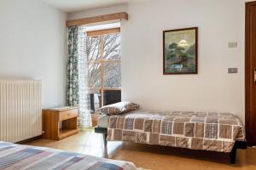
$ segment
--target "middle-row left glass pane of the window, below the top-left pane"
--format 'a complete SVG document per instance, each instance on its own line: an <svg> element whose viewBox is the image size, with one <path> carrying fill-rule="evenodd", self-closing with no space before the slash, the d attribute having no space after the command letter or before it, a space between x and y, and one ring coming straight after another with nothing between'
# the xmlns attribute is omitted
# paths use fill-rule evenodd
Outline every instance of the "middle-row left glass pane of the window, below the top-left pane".
<svg viewBox="0 0 256 170"><path fill-rule="evenodd" d="M101 63L93 62L88 64L89 88L101 88Z"/></svg>

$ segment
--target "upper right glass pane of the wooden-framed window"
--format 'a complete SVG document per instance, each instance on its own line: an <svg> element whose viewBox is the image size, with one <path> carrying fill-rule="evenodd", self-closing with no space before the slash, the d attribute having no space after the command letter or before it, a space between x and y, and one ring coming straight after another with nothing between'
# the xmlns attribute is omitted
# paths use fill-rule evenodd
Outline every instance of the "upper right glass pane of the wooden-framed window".
<svg viewBox="0 0 256 170"><path fill-rule="evenodd" d="M103 59L120 59L120 33L107 34L102 37Z"/></svg>

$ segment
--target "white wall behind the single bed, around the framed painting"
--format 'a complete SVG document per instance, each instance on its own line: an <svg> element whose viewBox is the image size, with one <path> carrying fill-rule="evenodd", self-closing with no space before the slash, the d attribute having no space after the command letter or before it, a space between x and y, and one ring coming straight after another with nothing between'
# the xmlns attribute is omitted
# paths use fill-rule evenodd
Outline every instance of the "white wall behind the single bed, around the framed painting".
<svg viewBox="0 0 256 170"><path fill-rule="evenodd" d="M244 121L244 2L148 0L129 3L122 22L122 99L148 110L230 111ZM115 8L121 12L124 7ZM78 19L111 8L69 14ZM199 74L163 76L162 31L199 27ZM227 48L238 42L238 48ZM237 67L238 74L228 74Z"/></svg>

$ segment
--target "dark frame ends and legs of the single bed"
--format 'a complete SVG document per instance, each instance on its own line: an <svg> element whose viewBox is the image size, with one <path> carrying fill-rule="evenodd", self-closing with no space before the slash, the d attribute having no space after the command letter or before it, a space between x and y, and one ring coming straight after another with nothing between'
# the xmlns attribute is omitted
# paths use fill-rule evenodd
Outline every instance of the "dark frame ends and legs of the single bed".
<svg viewBox="0 0 256 170"><path fill-rule="evenodd" d="M103 139L104 139L104 144L107 146L107 136L108 136L108 128L105 127L95 127L95 132L96 133L102 133ZM236 140L236 143L229 153L230 155L230 163L235 164L236 163L236 150L237 149L242 149L246 150L247 149L247 142L246 141L239 141Z"/></svg>

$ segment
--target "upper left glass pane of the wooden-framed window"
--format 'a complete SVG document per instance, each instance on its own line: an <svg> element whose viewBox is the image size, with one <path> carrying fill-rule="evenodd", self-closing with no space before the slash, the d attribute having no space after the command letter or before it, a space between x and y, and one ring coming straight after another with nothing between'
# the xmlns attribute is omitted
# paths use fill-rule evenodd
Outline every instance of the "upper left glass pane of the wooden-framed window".
<svg viewBox="0 0 256 170"><path fill-rule="evenodd" d="M100 42L101 42L101 37L100 36L87 37L86 53L87 53L88 62L93 61L93 60L101 59L101 56L100 56L100 50L101 50Z"/></svg>

